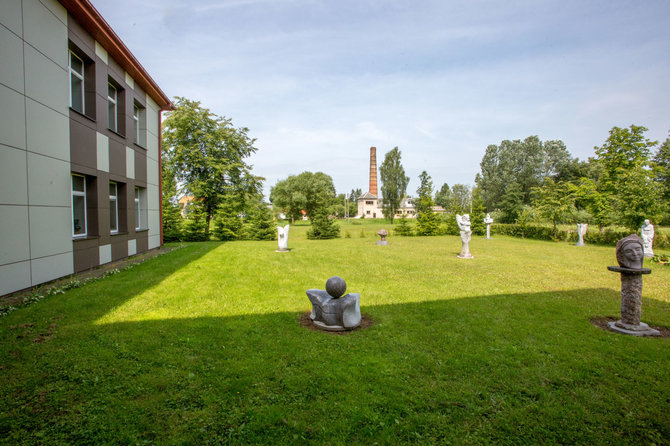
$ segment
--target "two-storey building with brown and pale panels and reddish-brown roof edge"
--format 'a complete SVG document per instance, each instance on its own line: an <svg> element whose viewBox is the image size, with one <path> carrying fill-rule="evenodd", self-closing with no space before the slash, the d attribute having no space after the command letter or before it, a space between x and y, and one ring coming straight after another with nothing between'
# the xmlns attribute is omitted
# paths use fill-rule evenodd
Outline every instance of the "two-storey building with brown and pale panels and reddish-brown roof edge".
<svg viewBox="0 0 670 446"><path fill-rule="evenodd" d="M4 295L161 245L172 104L88 0L0 4Z"/></svg>

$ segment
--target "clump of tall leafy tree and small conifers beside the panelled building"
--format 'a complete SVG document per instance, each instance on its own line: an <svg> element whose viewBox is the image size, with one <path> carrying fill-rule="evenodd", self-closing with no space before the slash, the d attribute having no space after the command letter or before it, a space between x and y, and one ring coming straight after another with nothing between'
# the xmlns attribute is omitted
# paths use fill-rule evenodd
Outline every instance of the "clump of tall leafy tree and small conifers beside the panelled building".
<svg viewBox="0 0 670 446"><path fill-rule="evenodd" d="M174 102L162 133L163 240L276 239L263 178L246 161L256 151L249 130L233 127L199 102ZM182 209L178 199L184 195L190 202Z"/></svg>

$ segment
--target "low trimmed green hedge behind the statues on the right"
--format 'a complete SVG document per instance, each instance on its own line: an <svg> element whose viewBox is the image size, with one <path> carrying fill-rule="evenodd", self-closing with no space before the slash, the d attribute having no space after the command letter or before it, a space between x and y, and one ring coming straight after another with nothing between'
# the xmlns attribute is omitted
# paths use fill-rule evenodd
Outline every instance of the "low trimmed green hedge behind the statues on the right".
<svg viewBox="0 0 670 446"><path fill-rule="evenodd" d="M531 238L535 240L555 240L570 243L576 243L579 238L577 236L577 228L574 230L559 229L557 237L554 237L554 229L552 227L505 223L494 223L491 225L491 233L509 235L512 237ZM598 228L589 228L584 235L584 243L615 246L619 240L630 234L631 231L627 229L605 228L603 232L600 232ZM670 236L667 234L656 233L654 236L654 248L670 248Z"/></svg>

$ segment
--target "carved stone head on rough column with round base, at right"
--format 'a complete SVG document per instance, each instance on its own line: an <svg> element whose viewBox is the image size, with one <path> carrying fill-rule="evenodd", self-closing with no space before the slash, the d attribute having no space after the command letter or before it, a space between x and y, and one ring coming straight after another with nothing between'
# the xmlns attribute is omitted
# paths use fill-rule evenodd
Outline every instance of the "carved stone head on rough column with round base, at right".
<svg viewBox="0 0 670 446"><path fill-rule="evenodd" d="M651 270L642 268L642 240L631 234L617 242L616 258L619 266L608 266L607 269L621 274L621 319L609 322L609 327L619 333L634 336L658 336L644 322L642 316L642 274L650 274Z"/></svg>

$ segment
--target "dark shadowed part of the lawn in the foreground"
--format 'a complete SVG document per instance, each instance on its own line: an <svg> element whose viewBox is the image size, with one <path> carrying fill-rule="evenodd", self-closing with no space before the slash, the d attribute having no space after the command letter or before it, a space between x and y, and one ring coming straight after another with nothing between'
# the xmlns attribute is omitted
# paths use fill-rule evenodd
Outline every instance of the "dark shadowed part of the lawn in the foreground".
<svg viewBox="0 0 670 446"><path fill-rule="evenodd" d="M175 267L121 294L214 247L160 259ZM97 302L76 326L62 321L42 344L6 338L0 433L9 442L670 438L668 341L591 325L618 314L612 290L363 301L375 324L348 336L306 330L300 311L93 324L126 298ZM646 322L667 321L669 303L644 305Z"/></svg>

